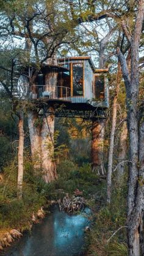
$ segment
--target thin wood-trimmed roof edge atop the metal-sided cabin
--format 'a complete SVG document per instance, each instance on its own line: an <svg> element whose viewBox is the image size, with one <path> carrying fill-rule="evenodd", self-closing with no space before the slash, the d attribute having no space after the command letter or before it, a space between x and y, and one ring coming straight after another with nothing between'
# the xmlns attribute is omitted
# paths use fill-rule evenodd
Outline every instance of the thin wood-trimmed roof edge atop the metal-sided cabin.
<svg viewBox="0 0 144 256"><path fill-rule="evenodd" d="M93 73L101 73L101 72L108 72L109 68L95 68L95 65L93 64L93 60L90 56L77 56L77 57L66 57L66 58L61 58L58 59L59 62L65 62L65 61L70 61L70 60L88 60L90 67L93 70Z"/></svg>

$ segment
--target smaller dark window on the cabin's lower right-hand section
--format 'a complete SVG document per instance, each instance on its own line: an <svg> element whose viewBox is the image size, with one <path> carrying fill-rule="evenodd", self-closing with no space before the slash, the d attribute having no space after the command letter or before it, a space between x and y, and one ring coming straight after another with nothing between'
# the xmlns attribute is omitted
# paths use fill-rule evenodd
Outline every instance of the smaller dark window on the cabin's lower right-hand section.
<svg viewBox="0 0 144 256"><path fill-rule="evenodd" d="M95 78L95 97L101 100L104 99L104 75Z"/></svg>

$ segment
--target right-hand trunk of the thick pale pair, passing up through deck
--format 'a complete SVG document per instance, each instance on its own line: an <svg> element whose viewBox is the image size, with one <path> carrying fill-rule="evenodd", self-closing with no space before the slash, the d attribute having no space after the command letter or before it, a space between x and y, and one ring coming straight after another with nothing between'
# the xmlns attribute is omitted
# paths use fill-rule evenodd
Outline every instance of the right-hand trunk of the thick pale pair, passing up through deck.
<svg viewBox="0 0 144 256"><path fill-rule="evenodd" d="M56 53L47 60L49 65L57 65ZM57 73L55 70L46 75L45 90L51 90L52 98L56 98ZM49 104L48 113L44 113L43 125L41 128L41 161L43 177L46 183L56 180L56 163L54 161L54 108Z"/></svg>

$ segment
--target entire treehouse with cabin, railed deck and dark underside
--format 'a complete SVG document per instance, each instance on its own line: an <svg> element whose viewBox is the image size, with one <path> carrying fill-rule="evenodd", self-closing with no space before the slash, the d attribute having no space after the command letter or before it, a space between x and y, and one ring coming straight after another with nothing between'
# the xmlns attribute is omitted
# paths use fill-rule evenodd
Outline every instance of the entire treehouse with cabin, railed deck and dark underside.
<svg viewBox="0 0 144 256"><path fill-rule="evenodd" d="M40 106L54 105L57 116L92 119L104 115L109 108L107 72L96 69L91 57L59 59L59 65L43 64L30 98Z"/></svg>

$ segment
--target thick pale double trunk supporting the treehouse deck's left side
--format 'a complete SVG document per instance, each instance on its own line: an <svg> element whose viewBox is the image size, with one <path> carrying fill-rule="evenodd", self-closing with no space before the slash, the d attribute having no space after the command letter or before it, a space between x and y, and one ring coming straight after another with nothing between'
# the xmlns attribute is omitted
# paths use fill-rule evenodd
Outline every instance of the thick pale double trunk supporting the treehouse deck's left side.
<svg viewBox="0 0 144 256"><path fill-rule="evenodd" d="M56 56L54 55L47 62L49 65L56 65ZM50 90L52 98L56 98L56 85L57 73L54 70L46 74L45 81L45 91ZM51 103L48 103L48 113L44 112L41 120L39 120L37 111L29 111L28 123L34 167L41 167L44 180L46 183L51 182L57 178L54 163L54 108Z"/></svg>

